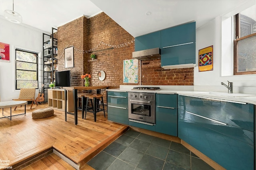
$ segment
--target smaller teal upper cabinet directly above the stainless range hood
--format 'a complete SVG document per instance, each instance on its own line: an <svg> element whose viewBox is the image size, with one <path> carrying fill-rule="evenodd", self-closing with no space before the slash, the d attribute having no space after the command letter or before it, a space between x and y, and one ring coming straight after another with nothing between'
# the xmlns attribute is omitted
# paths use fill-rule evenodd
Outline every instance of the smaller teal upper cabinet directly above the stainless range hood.
<svg viewBox="0 0 256 170"><path fill-rule="evenodd" d="M135 38L135 51L161 48L161 32L156 31Z"/></svg>

